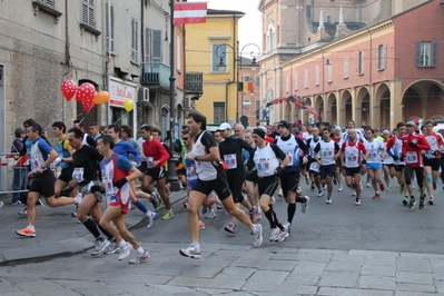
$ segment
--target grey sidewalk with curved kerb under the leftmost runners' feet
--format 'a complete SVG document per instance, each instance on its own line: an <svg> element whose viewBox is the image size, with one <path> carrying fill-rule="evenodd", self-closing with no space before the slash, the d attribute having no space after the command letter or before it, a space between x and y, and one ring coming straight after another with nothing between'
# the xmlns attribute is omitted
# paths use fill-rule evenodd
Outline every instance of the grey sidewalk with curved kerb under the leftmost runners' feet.
<svg viewBox="0 0 444 296"><path fill-rule="evenodd" d="M179 203L186 197L186 191L171 193L171 205ZM4 206L0 209L0 266L20 263L40 262L49 258L69 256L82 253L93 247L95 239L77 218L71 216L75 206L50 208L45 201L45 207L37 206L37 237L20 237L16 234L28 225L27 218L18 215L23 207L11 206L10 199L0 199ZM152 209L148 199L141 199L144 204ZM165 207L159 210L161 217ZM139 223L145 223L144 214L134 209L126 217L127 227L131 228Z"/></svg>

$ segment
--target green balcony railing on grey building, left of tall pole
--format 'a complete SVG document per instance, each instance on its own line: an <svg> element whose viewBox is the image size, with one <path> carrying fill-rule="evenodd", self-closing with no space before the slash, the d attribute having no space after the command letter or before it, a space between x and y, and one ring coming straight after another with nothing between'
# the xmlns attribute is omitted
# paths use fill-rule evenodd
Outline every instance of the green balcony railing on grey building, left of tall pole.
<svg viewBox="0 0 444 296"><path fill-rule="evenodd" d="M140 63L140 85L169 87L170 67L160 61Z"/></svg>

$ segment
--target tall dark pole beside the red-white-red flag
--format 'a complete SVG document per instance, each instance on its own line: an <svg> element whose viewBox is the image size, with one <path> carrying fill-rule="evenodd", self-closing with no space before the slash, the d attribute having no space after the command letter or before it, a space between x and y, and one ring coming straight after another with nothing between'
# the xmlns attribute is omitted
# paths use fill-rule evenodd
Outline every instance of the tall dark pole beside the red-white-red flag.
<svg viewBox="0 0 444 296"><path fill-rule="evenodd" d="M166 172L167 182L171 185L171 191L179 191L179 178L176 174L176 162L177 157L175 156L175 118L176 118L176 75L175 75L175 24L174 24L174 16L175 16L175 1L169 0L170 8L170 38L169 38L169 67L170 67L170 76L169 76L169 150L171 151L172 157L168 160L168 170Z"/></svg>

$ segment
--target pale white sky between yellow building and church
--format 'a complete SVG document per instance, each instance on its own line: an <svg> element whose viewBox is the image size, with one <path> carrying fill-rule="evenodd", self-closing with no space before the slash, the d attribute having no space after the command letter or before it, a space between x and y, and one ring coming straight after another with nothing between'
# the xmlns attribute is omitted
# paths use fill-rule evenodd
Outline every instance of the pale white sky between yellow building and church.
<svg viewBox="0 0 444 296"><path fill-rule="evenodd" d="M188 0L188 2L204 2L205 0ZM208 8L237 10L245 12L239 20L239 48L256 43L262 48L262 18L257 10L260 0L208 0ZM248 48L246 48L248 51Z"/></svg>

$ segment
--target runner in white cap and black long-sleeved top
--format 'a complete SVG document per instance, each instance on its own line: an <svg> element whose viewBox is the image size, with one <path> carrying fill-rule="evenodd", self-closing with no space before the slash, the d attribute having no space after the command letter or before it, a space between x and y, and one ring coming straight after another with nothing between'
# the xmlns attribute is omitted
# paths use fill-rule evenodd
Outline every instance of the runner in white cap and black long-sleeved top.
<svg viewBox="0 0 444 296"><path fill-rule="evenodd" d="M218 129L224 137L224 140L219 142L220 158L227 164L228 170L227 182L233 194L233 199L236 207L240 209L240 205L246 207L249 213L249 218L253 223L256 221L256 208L251 206L247 198L244 198L241 188L245 181L245 166L244 166L244 149L253 151L253 147L248 145L244 139L231 136L231 126L228 122L224 122ZM231 223L225 226L225 231L230 235L237 234L237 219L233 217Z"/></svg>

